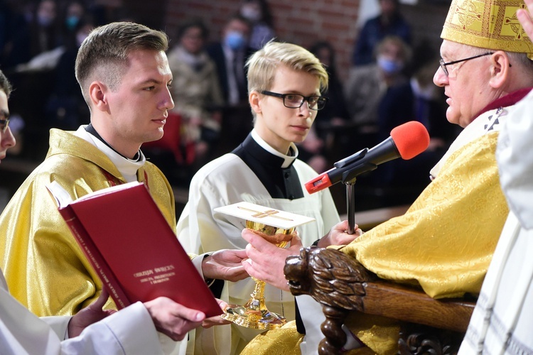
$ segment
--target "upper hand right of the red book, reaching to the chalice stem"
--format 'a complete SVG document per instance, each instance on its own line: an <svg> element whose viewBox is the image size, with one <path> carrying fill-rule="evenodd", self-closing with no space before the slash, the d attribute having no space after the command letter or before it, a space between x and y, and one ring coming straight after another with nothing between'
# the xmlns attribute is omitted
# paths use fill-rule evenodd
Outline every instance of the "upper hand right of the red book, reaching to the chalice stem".
<svg viewBox="0 0 533 355"><path fill-rule="evenodd" d="M242 266L242 260L247 258L246 251L236 249L222 249L215 251L202 261L204 278L218 280L239 281L248 277Z"/></svg>

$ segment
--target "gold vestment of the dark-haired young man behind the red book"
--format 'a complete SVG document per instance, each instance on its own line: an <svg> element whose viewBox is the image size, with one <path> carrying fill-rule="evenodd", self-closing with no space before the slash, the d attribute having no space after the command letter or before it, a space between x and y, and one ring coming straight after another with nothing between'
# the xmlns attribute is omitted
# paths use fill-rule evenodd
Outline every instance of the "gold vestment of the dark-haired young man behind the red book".
<svg viewBox="0 0 533 355"><path fill-rule="evenodd" d="M72 133L52 129L45 160L23 182L0 216L0 267L11 294L38 316L73 315L101 293L102 283L45 185L55 180L76 199L109 187L103 170L125 182L98 148ZM152 197L175 230L171 186L148 162L137 172L139 181L145 182L145 176ZM115 306L109 300L106 308L110 307Z"/></svg>

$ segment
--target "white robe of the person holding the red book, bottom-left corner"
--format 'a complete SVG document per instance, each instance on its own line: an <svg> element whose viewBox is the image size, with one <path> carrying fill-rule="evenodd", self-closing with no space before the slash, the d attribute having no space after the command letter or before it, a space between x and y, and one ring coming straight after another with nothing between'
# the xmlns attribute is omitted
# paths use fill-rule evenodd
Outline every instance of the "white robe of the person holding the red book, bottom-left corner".
<svg viewBox="0 0 533 355"><path fill-rule="evenodd" d="M50 320L50 319L48 319ZM70 317L54 317L66 329ZM58 323L59 321L59 323ZM0 354L162 354L158 334L142 303L126 307L60 341L43 320L0 287Z"/></svg>

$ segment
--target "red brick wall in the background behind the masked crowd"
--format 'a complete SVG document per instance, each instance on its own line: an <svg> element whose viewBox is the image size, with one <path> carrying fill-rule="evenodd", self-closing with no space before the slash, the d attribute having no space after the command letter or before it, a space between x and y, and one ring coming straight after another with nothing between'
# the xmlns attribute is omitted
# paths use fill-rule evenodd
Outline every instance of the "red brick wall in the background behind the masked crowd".
<svg viewBox="0 0 533 355"><path fill-rule="evenodd" d="M239 8L240 0L166 0L163 23L169 35L188 16L198 16L211 29L211 40L220 38L220 29L230 14ZM337 51L340 79L347 75L352 48L357 36L357 12L360 1L369 0L269 0L278 38L304 47L316 40L329 40ZM435 50L448 11L446 0L419 0L402 5L401 11L413 28L414 44L429 40ZM437 52L438 53L438 52ZM438 63L436 63L436 66Z"/></svg>

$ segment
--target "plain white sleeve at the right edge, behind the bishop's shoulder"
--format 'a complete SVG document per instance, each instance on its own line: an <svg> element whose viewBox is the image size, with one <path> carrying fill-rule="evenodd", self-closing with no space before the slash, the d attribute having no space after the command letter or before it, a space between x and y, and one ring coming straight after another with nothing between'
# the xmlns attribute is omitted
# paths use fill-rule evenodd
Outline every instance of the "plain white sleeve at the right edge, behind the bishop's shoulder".
<svg viewBox="0 0 533 355"><path fill-rule="evenodd" d="M533 91L505 122L496 158L500 183L510 209L524 229L533 228Z"/></svg>

